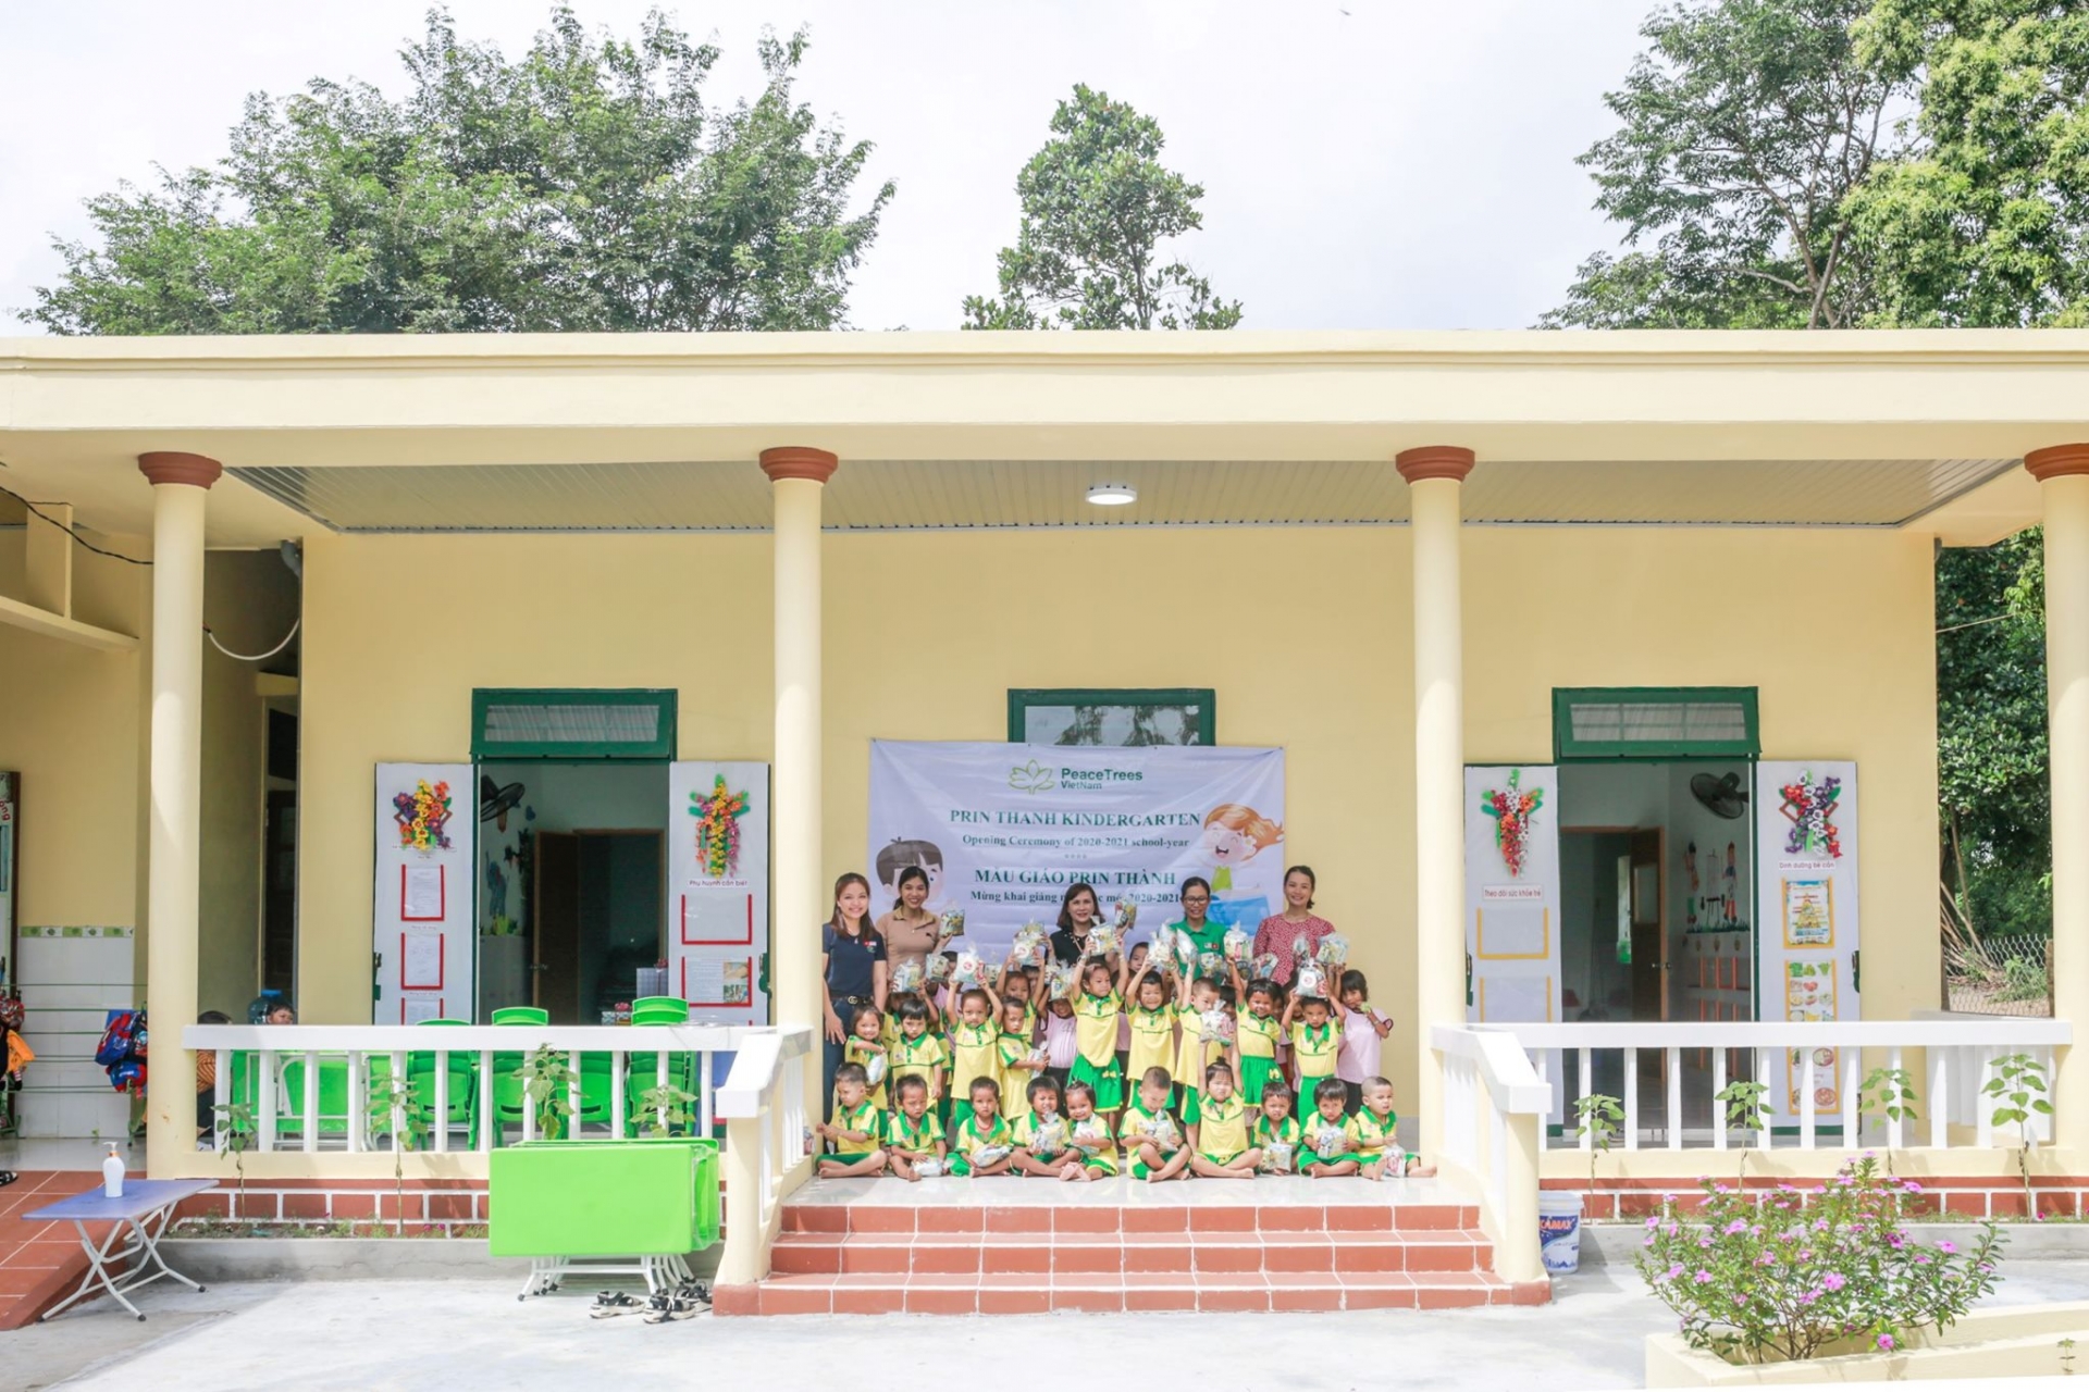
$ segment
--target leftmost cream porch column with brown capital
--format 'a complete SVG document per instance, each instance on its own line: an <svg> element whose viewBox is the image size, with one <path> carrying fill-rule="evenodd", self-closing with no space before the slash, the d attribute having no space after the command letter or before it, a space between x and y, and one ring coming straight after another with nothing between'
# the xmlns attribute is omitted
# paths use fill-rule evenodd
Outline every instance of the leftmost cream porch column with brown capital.
<svg viewBox="0 0 2089 1392"><path fill-rule="evenodd" d="M152 482L152 764L144 1000L159 1052L146 1087L146 1173L173 1179L196 1150L196 918L203 877L203 505L224 472L203 455L138 457Z"/></svg>

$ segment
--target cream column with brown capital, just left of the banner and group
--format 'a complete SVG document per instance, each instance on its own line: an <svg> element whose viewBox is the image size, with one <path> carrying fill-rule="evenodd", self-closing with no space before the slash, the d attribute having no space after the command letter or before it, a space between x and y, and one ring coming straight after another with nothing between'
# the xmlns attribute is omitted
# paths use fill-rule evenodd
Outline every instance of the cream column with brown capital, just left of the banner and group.
<svg viewBox="0 0 2089 1392"><path fill-rule="evenodd" d="M775 493L775 945L769 989L777 1025L821 1027L819 925L829 904L821 885L821 718L819 718L819 505L836 457L823 449L765 449ZM813 1052L819 1064L819 1050Z"/></svg>

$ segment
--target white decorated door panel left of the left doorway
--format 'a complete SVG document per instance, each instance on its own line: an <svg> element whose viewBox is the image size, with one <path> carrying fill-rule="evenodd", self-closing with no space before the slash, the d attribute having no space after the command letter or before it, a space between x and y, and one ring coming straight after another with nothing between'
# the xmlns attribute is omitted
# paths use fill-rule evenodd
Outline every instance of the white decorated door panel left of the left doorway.
<svg viewBox="0 0 2089 1392"><path fill-rule="evenodd" d="M472 1018L470 764L378 764L376 1025Z"/></svg>

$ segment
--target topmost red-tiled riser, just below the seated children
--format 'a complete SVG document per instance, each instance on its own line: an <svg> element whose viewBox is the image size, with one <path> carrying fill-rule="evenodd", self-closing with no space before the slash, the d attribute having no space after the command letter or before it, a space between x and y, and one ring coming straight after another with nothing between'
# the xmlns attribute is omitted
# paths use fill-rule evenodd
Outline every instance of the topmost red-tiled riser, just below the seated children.
<svg viewBox="0 0 2089 1392"><path fill-rule="evenodd" d="M785 1233L961 1235L961 1233L1368 1233L1479 1227L1471 1204L1268 1204L1084 1208L1009 1204L930 1208L902 1204L785 1204Z"/></svg>

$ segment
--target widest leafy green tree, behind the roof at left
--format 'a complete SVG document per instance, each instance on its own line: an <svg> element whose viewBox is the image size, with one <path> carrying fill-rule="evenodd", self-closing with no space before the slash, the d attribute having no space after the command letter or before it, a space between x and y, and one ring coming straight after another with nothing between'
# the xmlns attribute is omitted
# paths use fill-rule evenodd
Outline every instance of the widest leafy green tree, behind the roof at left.
<svg viewBox="0 0 2089 1392"><path fill-rule="evenodd" d="M428 15L399 100L251 96L213 167L88 200L94 234L25 319L54 334L823 330L892 198L869 142L794 100L765 33L752 102L660 13L631 42L556 8L508 61Z"/></svg>

